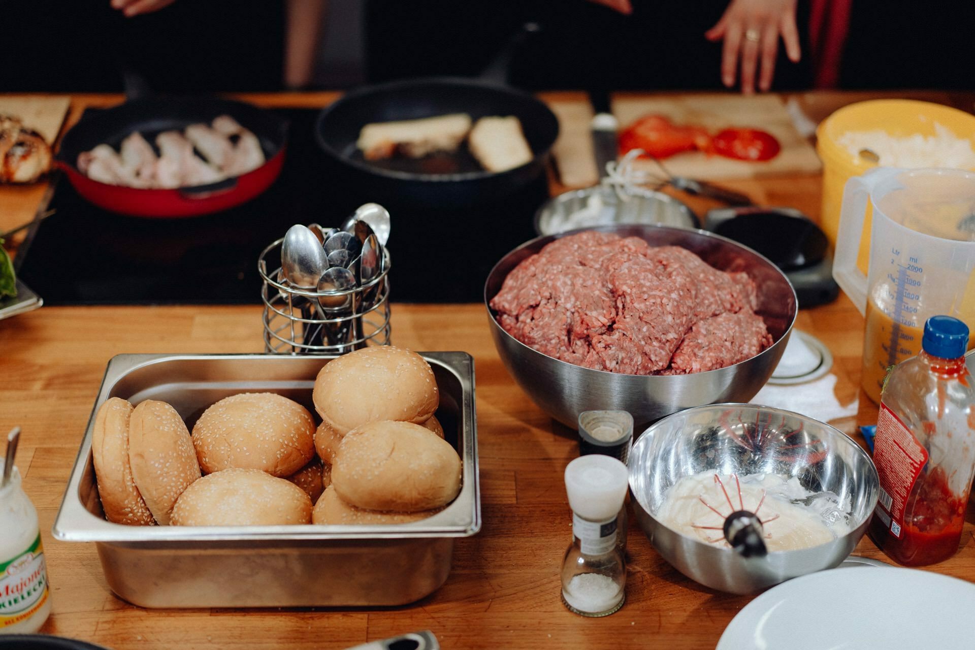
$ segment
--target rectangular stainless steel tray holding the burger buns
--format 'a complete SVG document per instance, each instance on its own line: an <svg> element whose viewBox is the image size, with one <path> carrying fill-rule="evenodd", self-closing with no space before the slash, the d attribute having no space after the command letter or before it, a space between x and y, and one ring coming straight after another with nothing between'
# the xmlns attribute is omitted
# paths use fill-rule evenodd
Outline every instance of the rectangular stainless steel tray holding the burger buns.
<svg viewBox="0 0 975 650"><path fill-rule="evenodd" d="M434 592L450 570L453 538L481 529L474 360L420 353L440 388L437 418L463 461L447 509L397 525L124 526L105 520L92 464L98 406L119 397L173 404L192 429L210 404L267 391L313 410L315 377L330 358L282 355L119 355L108 363L53 533L95 542L105 579L143 607L401 605Z"/></svg>

